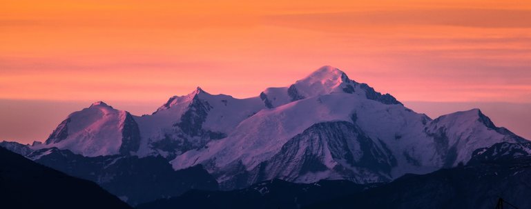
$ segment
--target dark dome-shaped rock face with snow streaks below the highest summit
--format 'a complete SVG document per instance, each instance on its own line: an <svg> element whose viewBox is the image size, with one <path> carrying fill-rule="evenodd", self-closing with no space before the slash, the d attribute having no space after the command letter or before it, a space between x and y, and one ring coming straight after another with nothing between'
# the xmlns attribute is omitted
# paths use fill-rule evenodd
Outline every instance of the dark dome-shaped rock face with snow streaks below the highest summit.
<svg viewBox="0 0 531 209"><path fill-rule="evenodd" d="M324 122L289 139L280 152L251 171L236 166L240 169L218 172L234 172L231 175L236 178L223 185L227 188L267 179L313 182L322 179L320 175L359 183L384 182L391 180L390 171L396 166L389 153L384 143L370 139L352 123Z"/></svg>

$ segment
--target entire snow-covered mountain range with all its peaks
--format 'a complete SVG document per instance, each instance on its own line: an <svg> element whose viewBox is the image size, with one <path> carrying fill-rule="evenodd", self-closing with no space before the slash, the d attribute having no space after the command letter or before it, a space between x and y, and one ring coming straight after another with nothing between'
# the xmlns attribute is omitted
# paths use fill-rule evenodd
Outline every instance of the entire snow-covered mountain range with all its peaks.
<svg viewBox="0 0 531 209"><path fill-rule="evenodd" d="M32 148L161 155L176 170L202 164L223 188L242 188L275 178L390 181L467 163L494 143L525 141L480 110L432 120L325 66L247 99L197 88L142 117L94 103Z"/></svg>

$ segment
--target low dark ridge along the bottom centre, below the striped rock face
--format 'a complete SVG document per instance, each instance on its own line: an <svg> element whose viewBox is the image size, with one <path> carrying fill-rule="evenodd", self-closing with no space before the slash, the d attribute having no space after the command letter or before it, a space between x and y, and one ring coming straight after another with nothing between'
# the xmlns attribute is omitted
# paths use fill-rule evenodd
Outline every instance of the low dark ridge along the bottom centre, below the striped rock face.
<svg viewBox="0 0 531 209"><path fill-rule="evenodd" d="M374 185L359 185L351 181L319 181L290 183L282 180L255 183L249 188L231 191L191 190L179 197L144 203L139 209L169 208L300 208L334 197L354 194Z"/></svg>

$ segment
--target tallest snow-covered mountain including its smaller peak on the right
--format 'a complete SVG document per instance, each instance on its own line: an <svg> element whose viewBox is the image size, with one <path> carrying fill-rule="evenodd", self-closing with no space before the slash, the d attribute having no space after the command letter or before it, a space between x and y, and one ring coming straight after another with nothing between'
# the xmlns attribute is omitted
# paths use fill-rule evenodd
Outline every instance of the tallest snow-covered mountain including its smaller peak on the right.
<svg viewBox="0 0 531 209"><path fill-rule="evenodd" d="M369 183L466 163L496 142L525 141L479 110L429 119L331 67L261 98L270 109L177 156L174 168L204 164L228 188L273 178Z"/></svg>

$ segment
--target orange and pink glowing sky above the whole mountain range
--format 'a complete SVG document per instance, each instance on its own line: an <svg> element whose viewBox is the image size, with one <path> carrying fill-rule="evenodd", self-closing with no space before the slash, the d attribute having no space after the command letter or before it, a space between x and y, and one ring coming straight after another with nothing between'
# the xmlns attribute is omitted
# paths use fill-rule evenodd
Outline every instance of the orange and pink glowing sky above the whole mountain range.
<svg viewBox="0 0 531 209"><path fill-rule="evenodd" d="M11 102L151 108L196 86L253 97L324 65L434 112L528 106L530 19L527 0L0 0L0 124L12 127L0 139L30 138Z"/></svg>

